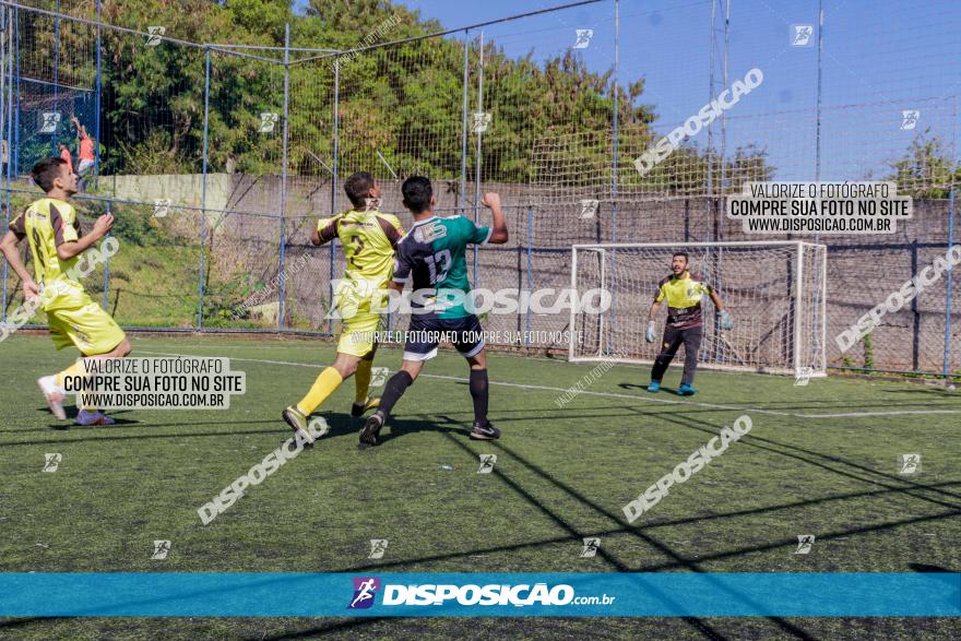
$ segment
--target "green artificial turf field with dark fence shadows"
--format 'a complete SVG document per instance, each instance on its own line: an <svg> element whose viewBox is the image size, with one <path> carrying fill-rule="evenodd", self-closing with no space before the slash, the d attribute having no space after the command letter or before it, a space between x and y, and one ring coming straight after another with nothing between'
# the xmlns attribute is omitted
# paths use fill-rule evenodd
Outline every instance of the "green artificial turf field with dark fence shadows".
<svg viewBox="0 0 961 641"><path fill-rule="evenodd" d="M347 381L331 426L203 525L197 509L289 437L280 412L334 347L265 336L133 337L134 356L226 356L247 372L227 411L117 412L81 428L35 379L75 356L46 336L0 345L0 571L912 572L961 570L961 399L944 388L702 371L692 399L648 394L615 366L559 407L595 364L490 354L490 418L467 439L466 366L430 361L359 452ZM375 366L394 371L401 352ZM68 409L72 414L72 407ZM752 429L632 525L621 507L741 414ZM44 473L45 453L62 454ZM497 454L478 474L479 454ZM922 471L899 474L899 454ZM448 467L453 467L449 470ZM797 535L815 534L807 555ZM593 558L582 538L601 537ZM370 539L388 539L369 559ZM169 539L165 560L153 541ZM309 598L309 595L292 595ZM651 638L948 639L957 619L0 619L13 639Z"/></svg>

